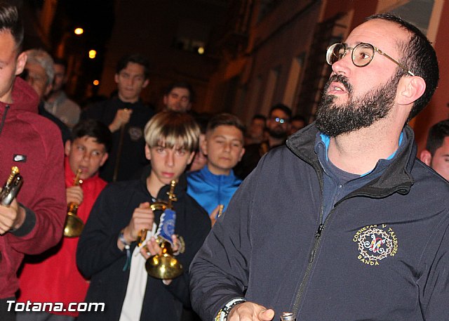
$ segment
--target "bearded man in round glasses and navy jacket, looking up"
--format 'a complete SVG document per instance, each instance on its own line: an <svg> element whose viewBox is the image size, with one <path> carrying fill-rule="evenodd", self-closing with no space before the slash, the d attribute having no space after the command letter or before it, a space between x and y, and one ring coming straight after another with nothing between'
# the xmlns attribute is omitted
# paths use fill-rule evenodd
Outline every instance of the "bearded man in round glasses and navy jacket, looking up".
<svg viewBox="0 0 449 321"><path fill-rule="evenodd" d="M407 125L435 51L374 15L326 60L316 122L262 157L190 267L203 320L448 320L449 185Z"/></svg>

